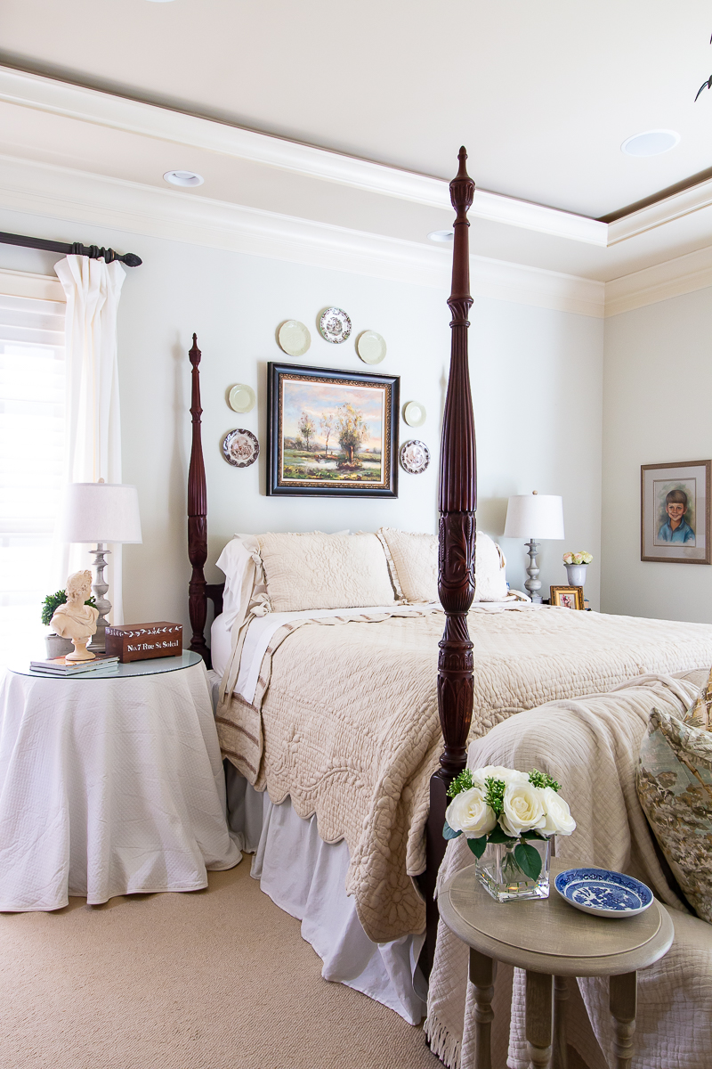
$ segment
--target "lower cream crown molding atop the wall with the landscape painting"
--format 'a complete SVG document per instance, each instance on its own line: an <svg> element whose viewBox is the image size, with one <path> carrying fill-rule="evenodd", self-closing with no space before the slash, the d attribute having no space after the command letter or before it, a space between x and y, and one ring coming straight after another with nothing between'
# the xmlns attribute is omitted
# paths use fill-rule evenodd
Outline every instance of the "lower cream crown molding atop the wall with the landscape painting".
<svg viewBox="0 0 712 1069"><path fill-rule="evenodd" d="M434 286L444 292L449 289L449 248L10 156L0 156L0 208L97 229L128 231L131 244L137 235L143 234ZM69 241L76 235L58 232L54 227L51 236ZM121 236L118 241L112 237L111 242L121 245ZM477 255L471 257L471 274L475 296L580 315L602 316L604 312L603 283L591 279Z"/></svg>

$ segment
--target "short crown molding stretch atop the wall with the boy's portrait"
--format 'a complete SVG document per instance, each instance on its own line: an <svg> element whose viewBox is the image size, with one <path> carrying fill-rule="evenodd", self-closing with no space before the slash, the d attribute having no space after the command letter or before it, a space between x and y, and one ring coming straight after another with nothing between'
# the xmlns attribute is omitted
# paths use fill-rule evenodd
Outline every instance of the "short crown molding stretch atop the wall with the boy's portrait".
<svg viewBox="0 0 712 1069"><path fill-rule="evenodd" d="M620 315L712 286L712 246L605 283L605 314Z"/></svg>

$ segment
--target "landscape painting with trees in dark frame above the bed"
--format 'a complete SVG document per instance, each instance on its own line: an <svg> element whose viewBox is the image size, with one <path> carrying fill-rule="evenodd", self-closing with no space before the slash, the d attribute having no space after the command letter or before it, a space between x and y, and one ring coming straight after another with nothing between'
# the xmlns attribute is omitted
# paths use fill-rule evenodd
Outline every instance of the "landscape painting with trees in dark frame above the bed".
<svg viewBox="0 0 712 1069"><path fill-rule="evenodd" d="M397 497L393 375L268 365L267 493Z"/></svg>

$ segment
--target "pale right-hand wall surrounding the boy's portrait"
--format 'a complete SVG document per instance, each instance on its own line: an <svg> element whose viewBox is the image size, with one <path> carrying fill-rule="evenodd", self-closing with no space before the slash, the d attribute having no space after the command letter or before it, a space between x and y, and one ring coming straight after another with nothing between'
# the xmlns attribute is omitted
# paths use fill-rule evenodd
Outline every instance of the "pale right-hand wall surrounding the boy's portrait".
<svg viewBox="0 0 712 1069"><path fill-rule="evenodd" d="M640 465L712 456L712 289L606 321L601 606L712 622L712 567L640 560Z"/></svg>

